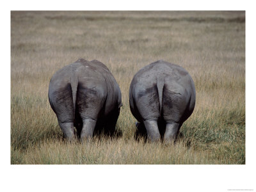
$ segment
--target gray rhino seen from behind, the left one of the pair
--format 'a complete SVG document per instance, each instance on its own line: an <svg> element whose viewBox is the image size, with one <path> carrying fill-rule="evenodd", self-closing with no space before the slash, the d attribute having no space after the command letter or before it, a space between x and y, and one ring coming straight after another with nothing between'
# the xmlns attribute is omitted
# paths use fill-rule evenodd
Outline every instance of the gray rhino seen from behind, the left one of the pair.
<svg viewBox="0 0 256 192"><path fill-rule="evenodd" d="M79 59L58 70L49 84L49 102L67 140L84 140L95 132L112 135L122 106L121 92L100 61Z"/></svg>

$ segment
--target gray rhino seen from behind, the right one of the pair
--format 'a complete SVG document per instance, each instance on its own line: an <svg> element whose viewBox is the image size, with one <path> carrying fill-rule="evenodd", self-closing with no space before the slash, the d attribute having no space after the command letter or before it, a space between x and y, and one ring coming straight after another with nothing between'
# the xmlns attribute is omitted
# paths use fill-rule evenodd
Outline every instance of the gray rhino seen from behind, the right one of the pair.
<svg viewBox="0 0 256 192"><path fill-rule="evenodd" d="M188 72L166 61L141 68L132 79L129 102L138 134L172 143L195 108L195 85Z"/></svg>

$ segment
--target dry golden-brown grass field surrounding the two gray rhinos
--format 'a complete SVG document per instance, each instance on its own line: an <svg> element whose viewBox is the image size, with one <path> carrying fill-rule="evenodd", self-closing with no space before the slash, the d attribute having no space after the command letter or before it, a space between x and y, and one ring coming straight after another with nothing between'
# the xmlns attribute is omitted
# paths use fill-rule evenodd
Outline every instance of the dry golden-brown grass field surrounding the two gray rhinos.
<svg viewBox="0 0 256 192"><path fill-rule="evenodd" d="M47 97L58 69L99 60L122 91L120 138L65 143ZM175 145L134 140L129 85L157 60L195 81ZM11 12L11 164L245 164L245 12Z"/></svg>

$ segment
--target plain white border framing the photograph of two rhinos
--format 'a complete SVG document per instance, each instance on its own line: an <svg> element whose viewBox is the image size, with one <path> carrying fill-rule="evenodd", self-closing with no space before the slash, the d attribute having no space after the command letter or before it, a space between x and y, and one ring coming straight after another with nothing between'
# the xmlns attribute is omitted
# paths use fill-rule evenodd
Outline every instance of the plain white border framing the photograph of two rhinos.
<svg viewBox="0 0 256 192"><path fill-rule="evenodd" d="M2 191L228 191L255 184L255 6L244 1L9 1L1 5ZM10 10L246 10L246 165L10 165ZM9 81L8 81L9 80ZM6 102L8 101L8 102Z"/></svg>

